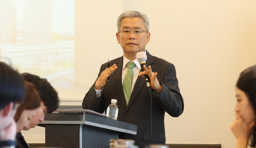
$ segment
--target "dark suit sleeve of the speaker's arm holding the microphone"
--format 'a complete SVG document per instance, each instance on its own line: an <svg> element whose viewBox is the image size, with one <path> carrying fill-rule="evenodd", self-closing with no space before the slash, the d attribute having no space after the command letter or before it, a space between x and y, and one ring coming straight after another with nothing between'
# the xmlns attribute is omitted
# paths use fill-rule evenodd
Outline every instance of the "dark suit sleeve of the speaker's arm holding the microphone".
<svg viewBox="0 0 256 148"><path fill-rule="evenodd" d="M170 63L168 65L161 85L162 92L157 96L158 102L170 116L180 116L184 110L184 102L180 94L176 70L173 64Z"/></svg>

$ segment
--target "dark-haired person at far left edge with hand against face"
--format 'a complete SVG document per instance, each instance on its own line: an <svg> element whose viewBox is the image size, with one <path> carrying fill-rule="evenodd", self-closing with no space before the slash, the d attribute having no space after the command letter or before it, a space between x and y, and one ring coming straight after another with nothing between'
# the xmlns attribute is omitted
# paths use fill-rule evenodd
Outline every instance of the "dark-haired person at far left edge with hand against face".
<svg viewBox="0 0 256 148"><path fill-rule="evenodd" d="M16 145L14 115L24 96L24 79L0 62L0 148L14 148Z"/></svg>

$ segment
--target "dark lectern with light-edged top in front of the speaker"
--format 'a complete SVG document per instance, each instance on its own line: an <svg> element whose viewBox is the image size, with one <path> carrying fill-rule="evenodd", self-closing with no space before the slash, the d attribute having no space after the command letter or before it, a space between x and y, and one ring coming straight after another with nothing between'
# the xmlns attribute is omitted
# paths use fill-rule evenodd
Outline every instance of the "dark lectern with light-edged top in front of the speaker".
<svg viewBox="0 0 256 148"><path fill-rule="evenodd" d="M119 132L137 134L137 126L90 112L45 114L46 147L109 148L109 139Z"/></svg>

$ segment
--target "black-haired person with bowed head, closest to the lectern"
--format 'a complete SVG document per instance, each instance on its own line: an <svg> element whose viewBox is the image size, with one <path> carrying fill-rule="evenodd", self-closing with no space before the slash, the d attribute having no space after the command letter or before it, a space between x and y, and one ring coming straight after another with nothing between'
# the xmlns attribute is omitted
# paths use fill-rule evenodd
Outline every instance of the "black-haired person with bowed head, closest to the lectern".
<svg viewBox="0 0 256 148"><path fill-rule="evenodd" d="M30 73L22 73L21 75L24 77L25 81L35 85L41 99L41 109L38 109L36 116L30 120L29 125L23 128L23 130L30 130L30 128L37 126L39 122L44 121L45 112L52 113L56 111L60 104L60 99L58 97L58 93L47 79L40 78L39 76L32 75Z"/></svg>

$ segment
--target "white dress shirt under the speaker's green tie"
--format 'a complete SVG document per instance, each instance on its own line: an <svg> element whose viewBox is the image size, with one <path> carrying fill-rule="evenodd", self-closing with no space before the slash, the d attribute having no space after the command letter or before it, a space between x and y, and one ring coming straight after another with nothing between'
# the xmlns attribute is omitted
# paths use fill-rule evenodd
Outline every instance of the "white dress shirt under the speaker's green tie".
<svg viewBox="0 0 256 148"><path fill-rule="evenodd" d="M146 49L145 49L145 53L146 53ZM128 62L132 62L132 61L130 61L129 59L127 59L127 58L124 56L124 58L123 58L123 67L122 67L122 84L123 84L123 82L124 82L124 77L125 77L125 75L126 75L126 73L127 73L127 71L128 71L128 66L126 65ZM138 75L139 75L140 69L141 69L140 63L139 63L139 61L138 61L137 59L134 59L133 62L135 63L136 66L134 66L133 69L132 69L132 70L133 70L133 78L132 78L131 93L132 93L132 90L133 90L133 88L134 88L134 84L135 84L135 82L136 82L136 80L137 80L137 78L138 78ZM95 89L95 88L94 88L94 89ZM96 92L96 96L97 96L97 97L100 97L102 90L103 90L103 87L102 87L101 90L95 89L95 92Z"/></svg>

